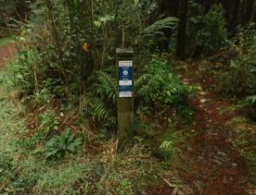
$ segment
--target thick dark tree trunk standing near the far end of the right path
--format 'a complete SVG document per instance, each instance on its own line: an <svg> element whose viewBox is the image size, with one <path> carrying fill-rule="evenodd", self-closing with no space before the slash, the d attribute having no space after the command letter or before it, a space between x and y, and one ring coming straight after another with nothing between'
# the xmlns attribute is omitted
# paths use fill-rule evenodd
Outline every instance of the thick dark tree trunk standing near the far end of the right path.
<svg viewBox="0 0 256 195"><path fill-rule="evenodd" d="M179 23L177 32L176 58L184 60L186 58L186 13L187 0L179 1Z"/></svg>

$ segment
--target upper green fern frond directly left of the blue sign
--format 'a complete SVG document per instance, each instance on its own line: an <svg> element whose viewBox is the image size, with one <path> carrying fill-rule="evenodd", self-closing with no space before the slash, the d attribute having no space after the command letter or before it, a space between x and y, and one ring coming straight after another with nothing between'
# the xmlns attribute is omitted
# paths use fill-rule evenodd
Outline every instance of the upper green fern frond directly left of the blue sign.
<svg viewBox="0 0 256 195"><path fill-rule="evenodd" d="M108 73L97 72L97 92L100 95L107 96L115 104L117 101L118 81Z"/></svg>

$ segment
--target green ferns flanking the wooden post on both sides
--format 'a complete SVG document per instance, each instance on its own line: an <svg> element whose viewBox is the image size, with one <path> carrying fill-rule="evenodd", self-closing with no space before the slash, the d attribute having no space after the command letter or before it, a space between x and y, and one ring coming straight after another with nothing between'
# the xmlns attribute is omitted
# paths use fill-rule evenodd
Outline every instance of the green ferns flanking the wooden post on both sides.
<svg viewBox="0 0 256 195"><path fill-rule="evenodd" d="M156 111L154 106L180 112L179 108L188 106L189 97L196 94L198 89L198 86L185 85L172 64L164 58L153 57L134 79L135 113L138 116L142 113L152 116ZM82 113L91 116L97 124L101 122L103 128L113 128L117 122L117 91L117 79L109 73L98 72L91 94L83 98ZM183 110L186 110L185 107Z"/></svg>

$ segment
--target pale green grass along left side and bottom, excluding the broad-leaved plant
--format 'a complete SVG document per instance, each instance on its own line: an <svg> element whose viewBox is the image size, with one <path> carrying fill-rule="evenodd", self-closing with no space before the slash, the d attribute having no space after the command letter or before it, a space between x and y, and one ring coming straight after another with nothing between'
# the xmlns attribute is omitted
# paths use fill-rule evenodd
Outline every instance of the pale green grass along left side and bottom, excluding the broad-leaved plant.
<svg viewBox="0 0 256 195"><path fill-rule="evenodd" d="M8 71L9 68L6 67ZM88 132L91 136L90 142L82 150L83 153L75 158L59 161L58 164L38 158L39 156L33 155L31 148L19 147L19 141L28 139L27 133L32 132L26 130L24 116L27 113L24 112L22 104L14 103L9 98L13 88L6 80L7 75L6 71L0 71L0 169L5 167L4 171L0 170L0 193L146 194L148 186L162 182L164 173L158 161L142 143L136 142L132 149L117 154L115 140L94 142L95 132L89 129L83 131L83 134ZM44 115L44 124L47 125L42 128L48 127L50 122L46 121L54 121L51 112L47 111ZM51 119L46 119L47 116L51 116ZM41 119L40 123L43 123L43 116ZM23 138L24 135L26 138ZM76 139L79 138L74 138ZM57 142L59 143L59 140ZM70 144L72 143L73 141ZM66 144L65 149L69 148L70 144ZM50 147L50 150L54 149Z"/></svg>

